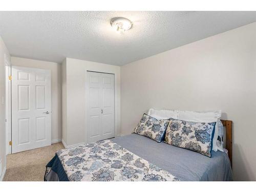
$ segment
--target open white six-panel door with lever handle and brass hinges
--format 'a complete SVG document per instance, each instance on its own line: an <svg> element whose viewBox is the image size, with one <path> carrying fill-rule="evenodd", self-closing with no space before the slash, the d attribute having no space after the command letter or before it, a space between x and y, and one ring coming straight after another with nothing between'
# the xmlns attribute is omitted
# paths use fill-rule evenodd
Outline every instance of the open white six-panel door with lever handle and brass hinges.
<svg viewBox="0 0 256 192"><path fill-rule="evenodd" d="M12 153L51 145L51 71L12 66Z"/></svg>

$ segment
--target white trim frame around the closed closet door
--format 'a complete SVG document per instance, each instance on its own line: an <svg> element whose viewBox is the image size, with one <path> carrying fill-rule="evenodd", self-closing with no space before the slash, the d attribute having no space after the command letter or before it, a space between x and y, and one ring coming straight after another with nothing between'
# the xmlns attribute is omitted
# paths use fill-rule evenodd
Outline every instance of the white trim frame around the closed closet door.
<svg viewBox="0 0 256 192"><path fill-rule="evenodd" d="M104 74L111 74L111 75L114 75L114 136L116 137L117 136L117 121L116 121L116 115L117 115L117 109L116 109L116 100L117 100L117 93L116 93L116 74L115 73L107 73L107 72L99 72L99 71L92 71L92 70L86 70L86 75L85 75L85 99L86 99L86 102L85 102L85 120L86 120L86 131L85 131L85 138L86 138L86 143L88 143L88 132L89 132L89 129L88 129L88 117L87 117L87 114L88 114L88 104L89 104L89 92L87 92L87 89L88 89L88 82L87 82L87 72L92 72L92 73L104 73Z"/></svg>

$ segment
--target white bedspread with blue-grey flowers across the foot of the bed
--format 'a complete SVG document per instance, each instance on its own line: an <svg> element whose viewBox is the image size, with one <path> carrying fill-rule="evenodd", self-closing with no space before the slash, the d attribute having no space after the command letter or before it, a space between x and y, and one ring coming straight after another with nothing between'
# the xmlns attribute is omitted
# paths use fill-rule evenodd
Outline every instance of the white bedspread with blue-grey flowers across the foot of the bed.
<svg viewBox="0 0 256 192"><path fill-rule="evenodd" d="M111 140L57 152L70 181L179 181Z"/></svg>

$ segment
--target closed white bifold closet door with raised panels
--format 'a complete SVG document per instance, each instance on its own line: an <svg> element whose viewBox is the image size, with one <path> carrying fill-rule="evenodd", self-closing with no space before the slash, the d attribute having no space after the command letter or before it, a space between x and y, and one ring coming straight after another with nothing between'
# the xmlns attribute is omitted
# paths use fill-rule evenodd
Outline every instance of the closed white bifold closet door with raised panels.
<svg viewBox="0 0 256 192"><path fill-rule="evenodd" d="M88 142L115 136L114 74L87 72Z"/></svg>

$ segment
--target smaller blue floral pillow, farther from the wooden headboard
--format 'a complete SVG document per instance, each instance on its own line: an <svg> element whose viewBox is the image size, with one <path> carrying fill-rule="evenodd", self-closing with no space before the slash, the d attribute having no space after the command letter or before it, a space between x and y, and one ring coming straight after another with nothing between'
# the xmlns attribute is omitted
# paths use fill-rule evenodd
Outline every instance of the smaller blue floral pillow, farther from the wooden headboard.
<svg viewBox="0 0 256 192"><path fill-rule="evenodd" d="M151 138L157 142L161 142L164 138L169 119L157 120L147 114L143 114L140 122L136 126L134 133Z"/></svg>

